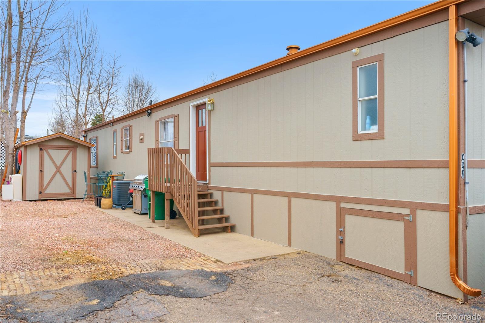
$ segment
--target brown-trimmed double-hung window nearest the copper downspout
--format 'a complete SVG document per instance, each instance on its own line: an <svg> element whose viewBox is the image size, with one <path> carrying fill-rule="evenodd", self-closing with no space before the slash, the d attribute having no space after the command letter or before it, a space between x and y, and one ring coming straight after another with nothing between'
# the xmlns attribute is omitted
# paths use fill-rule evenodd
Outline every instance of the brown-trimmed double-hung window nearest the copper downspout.
<svg viewBox="0 0 485 323"><path fill-rule="evenodd" d="M384 54L352 64L353 140L384 139Z"/></svg>

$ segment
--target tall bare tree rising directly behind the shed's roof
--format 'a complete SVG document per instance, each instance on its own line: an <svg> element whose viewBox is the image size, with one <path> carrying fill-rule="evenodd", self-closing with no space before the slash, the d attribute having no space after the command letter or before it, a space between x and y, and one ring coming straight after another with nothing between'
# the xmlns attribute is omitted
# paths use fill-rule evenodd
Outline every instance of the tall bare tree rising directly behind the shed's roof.
<svg viewBox="0 0 485 323"><path fill-rule="evenodd" d="M84 11L70 19L61 39L58 93L55 112L69 123L70 135L79 138L96 111L96 73L100 60L97 29Z"/></svg>

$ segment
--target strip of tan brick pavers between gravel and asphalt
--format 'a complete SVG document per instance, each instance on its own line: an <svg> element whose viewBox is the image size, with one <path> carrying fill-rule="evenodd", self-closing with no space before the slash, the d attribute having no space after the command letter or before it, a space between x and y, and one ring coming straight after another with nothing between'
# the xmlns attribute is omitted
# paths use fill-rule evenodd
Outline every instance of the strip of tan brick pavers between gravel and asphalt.
<svg viewBox="0 0 485 323"><path fill-rule="evenodd" d="M168 269L222 271L239 267L243 266L237 264L227 265L214 258L201 257L194 260L179 258L144 260L130 263L129 265L97 264L89 267L45 268L25 272L5 272L0 273L0 295L25 295L34 291L56 290L65 286L94 280L96 275L103 273L115 273L117 276L123 276Z"/></svg>

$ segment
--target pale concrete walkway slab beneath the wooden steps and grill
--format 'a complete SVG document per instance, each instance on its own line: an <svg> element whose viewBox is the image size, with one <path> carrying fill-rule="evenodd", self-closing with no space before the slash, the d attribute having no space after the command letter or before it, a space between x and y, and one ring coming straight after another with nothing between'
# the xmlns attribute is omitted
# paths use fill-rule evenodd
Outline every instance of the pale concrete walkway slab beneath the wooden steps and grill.
<svg viewBox="0 0 485 323"><path fill-rule="evenodd" d="M226 233L216 228L203 230L200 237L195 238L185 220L181 217L170 220L170 228L165 229L163 220L151 223L147 214L140 215L134 213L131 209L102 211L225 263L277 256L297 251L273 242L252 238L236 232Z"/></svg>

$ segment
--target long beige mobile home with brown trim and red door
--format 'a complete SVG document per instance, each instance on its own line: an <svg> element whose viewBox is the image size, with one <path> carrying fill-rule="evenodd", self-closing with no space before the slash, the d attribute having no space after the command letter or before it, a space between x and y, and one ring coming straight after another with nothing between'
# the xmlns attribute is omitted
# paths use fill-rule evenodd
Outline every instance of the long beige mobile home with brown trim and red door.
<svg viewBox="0 0 485 323"><path fill-rule="evenodd" d="M191 181L208 185L216 214L228 215L224 229L477 296L485 44L469 41L485 36L484 17L485 1L438 1L311 48L290 46L272 62L86 129L96 145L91 174L155 174L157 158L169 156L187 168L190 194ZM463 43L455 33L466 28ZM150 185L172 190L160 178ZM199 198L191 207L170 193L198 235Z"/></svg>

